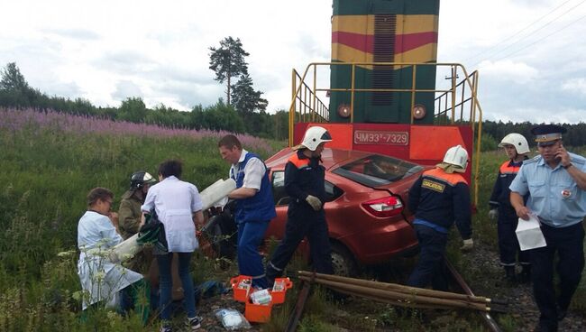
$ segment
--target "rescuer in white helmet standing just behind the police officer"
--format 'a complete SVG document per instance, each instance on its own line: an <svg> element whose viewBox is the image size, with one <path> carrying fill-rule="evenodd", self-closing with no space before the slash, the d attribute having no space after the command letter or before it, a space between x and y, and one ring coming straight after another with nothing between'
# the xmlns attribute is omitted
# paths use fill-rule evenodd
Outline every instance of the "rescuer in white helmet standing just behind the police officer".
<svg viewBox="0 0 586 332"><path fill-rule="evenodd" d="M523 161L528 159L529 144L522 134L512 133L506 135L500 141L499 147L505 149L510 160L500 165L499 175L494 183L492 195L490 195L489 217L490 219L498 219L500 265L505 268L505 278L509 283L515 281L526 283L531 279L529 252L521 251L519 248L517 235L515 234L518 217L515 208L510 205L510 189L508 189L508 186L517 176ZM522 268L518 278L515 274L517 254L518 262Z"/></svg>

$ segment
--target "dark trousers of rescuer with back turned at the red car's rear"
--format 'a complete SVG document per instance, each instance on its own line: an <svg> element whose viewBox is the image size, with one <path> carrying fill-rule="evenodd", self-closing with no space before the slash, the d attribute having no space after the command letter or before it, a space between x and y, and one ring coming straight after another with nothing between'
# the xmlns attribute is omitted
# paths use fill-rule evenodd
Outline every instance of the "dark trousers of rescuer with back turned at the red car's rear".
<svg viewBox="0 0 586 332"><path fill-rule="evenodd" d="M446 291L444 253L448 235L428 226L415 225L414 227L420 252L417 266L409 276L407 285L424 288L431 283L434 290Z"/></svg>

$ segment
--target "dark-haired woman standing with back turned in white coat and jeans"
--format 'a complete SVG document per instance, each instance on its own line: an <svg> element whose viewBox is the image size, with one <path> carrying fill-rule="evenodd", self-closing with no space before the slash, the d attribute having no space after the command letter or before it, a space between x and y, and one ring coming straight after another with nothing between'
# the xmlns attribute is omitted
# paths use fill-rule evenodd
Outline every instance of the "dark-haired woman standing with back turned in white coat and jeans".
<svg viewBox="0 0 586 332"><path fill-rule="evenodd" d="M203 225L202 201L193 184L179 180L182 165L180 161L164 161L159 166L159 180L149 189L142 205L144 214L154 208L160 222L165 226L168 252L154 252L159 263L160 319L161 331L170 331L171 318L171 260L173 253L179 255L179 278L183 284L184 308L188 314L188 326L195 330L201 325L196 316L193 281L189 273L191 254L197 249L196 224Z"/></svg>

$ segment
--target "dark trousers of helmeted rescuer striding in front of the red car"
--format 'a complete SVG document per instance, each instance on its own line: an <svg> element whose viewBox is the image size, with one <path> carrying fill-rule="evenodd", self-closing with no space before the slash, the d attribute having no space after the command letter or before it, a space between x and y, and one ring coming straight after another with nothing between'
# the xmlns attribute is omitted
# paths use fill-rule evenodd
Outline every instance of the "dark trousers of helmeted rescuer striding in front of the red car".
<svg viewBox="0 0 586 332"><path fill-rule="evenodd" d="M307 236L311 261L316 272L332 274L332 250L327 223L323 213L307 217L288 217L285 236L267 266L267 278L270 283L282 275L285 266L291 260L299 243Z"/></svg>

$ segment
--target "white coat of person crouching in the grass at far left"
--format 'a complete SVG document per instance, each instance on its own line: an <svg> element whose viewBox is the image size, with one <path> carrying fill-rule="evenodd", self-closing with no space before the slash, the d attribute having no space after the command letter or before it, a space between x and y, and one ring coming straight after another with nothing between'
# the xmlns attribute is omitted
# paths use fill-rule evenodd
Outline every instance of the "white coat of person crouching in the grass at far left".
<svg viewBox="0 0 586 332"><path fill-rule="evenodd" d="M142 274L111 263L108 259L111 248L120 242L122 237L116 233L110 218L87 211L79 219L78 248L81 253L78 275L82 290L87 292L82 309L101 300L105 301L106 306L113 307L118 291L142 279Z"/></svg>

